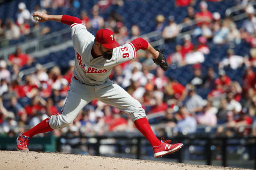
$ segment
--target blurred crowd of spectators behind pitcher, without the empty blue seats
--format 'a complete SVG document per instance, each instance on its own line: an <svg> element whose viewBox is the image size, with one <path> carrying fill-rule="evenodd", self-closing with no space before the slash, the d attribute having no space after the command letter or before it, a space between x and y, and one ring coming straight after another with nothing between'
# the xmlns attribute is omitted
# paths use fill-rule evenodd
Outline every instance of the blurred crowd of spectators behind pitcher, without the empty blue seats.
<svg viewBox="0 0 256 170"><path fill-rule="evenodd" d="M229 17L208 10L207 1L199 4L200 11L195 12L195 1L175 1L177 6L187 6L187 17L182 21L182 28L175 22L175 17L157 15L155 30L161 32L165 43L177 40L181 32L190 31L183 36L182 43L175 45L175 52L167 56L170 66L193 67L193 77L189 83L182 84L166 75L151 60L151 56L139 50L137 58L114 67L110 79L123 87L130 95L139 100L145 109L149 122L157 135L187 135L211 133L215 135L253 135L256 136L256 18L251 2L237 1L242 6L247 18L242 27ZM106 20L100 13L110 5L122 6L123 1L99 1L91 10L92 18L86 11L81 12L81 20L89 30L111 29L119 44L125 44L140 35L138 25L129 30L123 23L122 15L110 13ZM79 1L41 1L35 11L58 7L79 7ZM33 29L40 30L36 36L44 35L50 28L41 28L31 20L31 13L26 5L20 3L17 21L9 20L2 24L2 36L6 39L19 38L31 34ZM166 22L167 21L167 22ZM194 24L193 24L194 23ZM36 26L37 25L37 26ZM197 42L193 42L196 39ZM203 72L205 55L211 52L207 45L237 45L245 41L250 46L250 54L239 56L229 48L226 56L217 61L218 69L208 67ZM3 41L1 41L3 42ZM36 64L36 72L21 76L20 71L29 68L35 62L33 56L22 53L20 47L9 56L8 61L0 61L0 134L12 137L35 126L44 118L59 113L65 104L71 82L74 61L69 61L68 68L54 66L45 69ZM242 83L231 80L225 68L246 69ZM206 97L199 95L199 89L208 91ZM93 100L75 118L73 124L53 134L105 134L106 132L135 132L135 126L129 115L117 108Z"/></svg>

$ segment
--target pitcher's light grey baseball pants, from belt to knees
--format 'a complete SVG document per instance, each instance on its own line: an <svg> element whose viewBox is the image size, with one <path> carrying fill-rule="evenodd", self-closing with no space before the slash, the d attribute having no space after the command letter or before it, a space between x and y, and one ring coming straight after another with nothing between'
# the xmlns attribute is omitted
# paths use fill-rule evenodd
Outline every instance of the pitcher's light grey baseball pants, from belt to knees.
<svg viewBox="0 0 256 170"><path fill-rule="evenodd" d="M61 129L73 123L79 111L93 99L98 99L129 114L133 122L139 118L146 117L139 101L114 81L108 80L105 84L99 86L89 86L72 78L66 103L62 108L62 114L52 115L49 118L51 128Z"/></svg>

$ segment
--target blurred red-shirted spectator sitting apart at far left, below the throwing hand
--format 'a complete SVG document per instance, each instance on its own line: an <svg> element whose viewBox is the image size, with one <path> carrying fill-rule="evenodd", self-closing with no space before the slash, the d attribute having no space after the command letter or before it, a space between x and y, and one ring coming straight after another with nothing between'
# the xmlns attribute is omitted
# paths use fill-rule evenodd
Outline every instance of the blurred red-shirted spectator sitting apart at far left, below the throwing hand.
<svg viewBox="0 0 256 170"><path fill-rule="evenodd" d="M18 64L20 67L23 67L30 60L32 60L32 57L30 57L28 54L22 53L20 47L17 47L16 52L9 56L9 61L11 64Z"/></svg>

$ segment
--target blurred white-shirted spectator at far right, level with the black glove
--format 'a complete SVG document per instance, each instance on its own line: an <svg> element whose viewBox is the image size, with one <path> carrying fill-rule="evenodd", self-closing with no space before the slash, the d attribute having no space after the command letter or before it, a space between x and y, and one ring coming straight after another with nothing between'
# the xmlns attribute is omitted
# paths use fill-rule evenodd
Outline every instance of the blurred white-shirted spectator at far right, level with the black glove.
<svg viewBox="0 0 256 170"><path fill-rule="evenodd" d="M244 63L244 58L242 56L234 55L233 49L227 50L228 56L223 58L219 63L219 69L223 69L226 66L230 66L231 69L236 70L238 67L241 67Z"/></svg>

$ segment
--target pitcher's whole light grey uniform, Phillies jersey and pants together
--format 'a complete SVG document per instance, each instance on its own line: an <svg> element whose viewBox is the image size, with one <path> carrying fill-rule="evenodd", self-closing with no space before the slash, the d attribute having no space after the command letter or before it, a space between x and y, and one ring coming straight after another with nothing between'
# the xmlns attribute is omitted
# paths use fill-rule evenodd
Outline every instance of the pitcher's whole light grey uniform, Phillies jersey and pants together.
<svg viewBox="0 0 256 170"><path fill-rule="evenodd" d="M84 24L72 24L71 37L76 61L73 78L62 114L53 115L49 119L51 128L60 129L73 123L78 112L93 99L98 99L130 114L133 122L146 117L139 101L108 78L114 66L135 58L133 44L127 43L114 48L113 56L110 60L106 60L103 57L92 57L91 50L95 37Z"/></svg>

